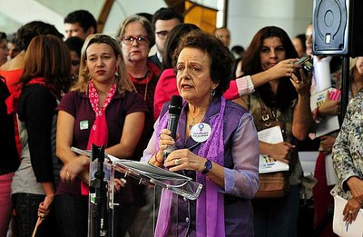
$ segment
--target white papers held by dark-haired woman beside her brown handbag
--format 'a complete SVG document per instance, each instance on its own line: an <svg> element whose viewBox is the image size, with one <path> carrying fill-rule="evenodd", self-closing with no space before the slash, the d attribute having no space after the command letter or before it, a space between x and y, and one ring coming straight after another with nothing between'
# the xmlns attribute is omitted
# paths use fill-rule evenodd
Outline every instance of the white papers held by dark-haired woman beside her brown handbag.
<svg viewBox="0 0 363 237"><path fill-rule="evenodd" d="M257 134L259 136L260 142L270 144L283 142L280 126L274 126L264 129ZM276 161L267 154L260 154L260 173L271 173L279 171L289 171L289 164Z"/></svg>

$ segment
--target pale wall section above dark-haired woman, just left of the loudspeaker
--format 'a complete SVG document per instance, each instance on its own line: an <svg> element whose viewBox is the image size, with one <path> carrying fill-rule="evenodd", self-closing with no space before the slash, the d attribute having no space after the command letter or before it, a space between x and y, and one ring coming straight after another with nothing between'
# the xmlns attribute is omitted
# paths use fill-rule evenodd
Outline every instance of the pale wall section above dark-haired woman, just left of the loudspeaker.
<svg viewBox="0 0 363 237"><path fill-rule="evenodd" d="M313 0L229 0L227 26L231 46L245 48L260 28L279 26L292 38L305 33L312 21Z"/></svg>

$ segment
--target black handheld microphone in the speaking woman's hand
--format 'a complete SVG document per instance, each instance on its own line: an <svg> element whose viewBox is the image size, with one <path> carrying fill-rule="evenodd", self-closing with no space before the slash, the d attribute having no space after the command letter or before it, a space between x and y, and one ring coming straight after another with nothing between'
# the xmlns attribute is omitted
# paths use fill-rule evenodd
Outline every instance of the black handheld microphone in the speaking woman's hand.
<svg viewBox="0 0 363 237"><path fill-rule="evenodd" d="M178 128L179 117L182 113L182 96L180 95L172 95L172 100L169 105L169 120L168 120L168 129L172 132L171 136L175 140L176 139L176 130ZM167 149L163 151L163 158L168 157L172 151L175 150L175 146L169 146Z"/></svg>

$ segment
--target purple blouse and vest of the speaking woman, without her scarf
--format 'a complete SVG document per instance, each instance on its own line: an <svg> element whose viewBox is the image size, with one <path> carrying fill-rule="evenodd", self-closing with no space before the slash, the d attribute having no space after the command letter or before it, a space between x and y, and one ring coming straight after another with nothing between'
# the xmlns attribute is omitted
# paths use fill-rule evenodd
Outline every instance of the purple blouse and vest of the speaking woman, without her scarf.
<svg viewBox="0 0 363 237"><path fill-rule="evenodd" d="M210 123L212 116L220 111L221 98L214 98L208 108L202 123ZM162 114L167 110L164 104ZM201 147L188 137L185 139L186 114L188 107L182 111L177 133L179 140L175 145L178 149L188 148L192 153L198 153ZM224 196L224 215L226 236L238 234L240 236L253 236L253 212L250 199L254 197L259 188L259 140L252 116L240 105L227 101L224 114L224 189L219 192ZM158 121L154 127L157 126ZM185 141L185 142L184 142ZM148 147L143 153L142 161L150 160L155 149L155 132L152 134ZM195 180L195 173L185 171L186 175ZM188 232L194 235L195 202L185 202L180 197L178 201L178 232ZM189 208L188 208L189 205ZM187 212L187 210L191 210ZM211 213L212 214L212 213ZM191 220L190 220L191 219ZM190 222L190 223L189 223Z"/></svg>

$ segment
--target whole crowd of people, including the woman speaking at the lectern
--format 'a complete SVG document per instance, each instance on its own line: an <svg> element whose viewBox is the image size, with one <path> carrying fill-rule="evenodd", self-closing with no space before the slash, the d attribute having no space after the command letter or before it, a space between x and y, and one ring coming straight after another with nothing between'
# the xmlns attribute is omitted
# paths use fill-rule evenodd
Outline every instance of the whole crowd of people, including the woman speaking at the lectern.
<svg viewBox="0 0 363 237"><path fill-rule="evenodd" d="M227 27L203 32L172 8L146 16L126 17L114 38L97 33L85 10L64 18L64 35L41 21L11 38L0 33L0 237L88 235L90 159L71 148L92 144L202 184L191 201L116 175L113 236L301 236L299 151L306 150L319 152L314 234L334 236L331 193L348 200L344 218L354 222L363 206L363 57L351 63L343 118L329 92L311 110L312 94L341 84L341 58L312 55L313 25L292 39L280 27L263 27L245 50L230 49ZM303 56L314 70L296 64ZM323 67L324 78L317 73ZM176 137L168 129L172 95L182 97ZM341 131L314 137L336 115ZM260 141L271 124L283 142ZM207 135L197 139L198 131ZM289 164L284 196L255 198L260 154ZM335 186L326 178L329 155Z"/></svg>

